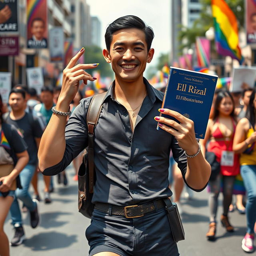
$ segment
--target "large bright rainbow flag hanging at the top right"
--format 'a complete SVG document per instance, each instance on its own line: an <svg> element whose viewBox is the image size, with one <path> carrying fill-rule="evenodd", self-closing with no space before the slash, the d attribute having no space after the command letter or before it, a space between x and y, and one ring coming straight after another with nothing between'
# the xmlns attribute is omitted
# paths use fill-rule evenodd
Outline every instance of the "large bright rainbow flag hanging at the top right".
<svg viewBox="0 0 256 256"><path fill-rule="evenodd" d="M244 58L238 45L236 16L224 0L212 0L212 16L217 52L223 56L230 56L242 64Z"/></svg>

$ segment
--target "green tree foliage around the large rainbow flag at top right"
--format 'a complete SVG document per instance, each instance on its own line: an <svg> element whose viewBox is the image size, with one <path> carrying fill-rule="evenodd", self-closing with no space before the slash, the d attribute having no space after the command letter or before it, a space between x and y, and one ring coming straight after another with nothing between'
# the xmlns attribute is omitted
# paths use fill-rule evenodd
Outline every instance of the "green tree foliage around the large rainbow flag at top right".
<svg viewBox="0 0 256 256"><path fill-rule="evenodd" d="M238 20L239 28L244 27L244 0L225 0ZM191 48L196 42L197 36L205 36L205 32L213 26L211 0L200 0L202 10L200 17L193 22L191 28L181 27L178 39L180 41L179 52L182 55L184 48Z"/></svg>

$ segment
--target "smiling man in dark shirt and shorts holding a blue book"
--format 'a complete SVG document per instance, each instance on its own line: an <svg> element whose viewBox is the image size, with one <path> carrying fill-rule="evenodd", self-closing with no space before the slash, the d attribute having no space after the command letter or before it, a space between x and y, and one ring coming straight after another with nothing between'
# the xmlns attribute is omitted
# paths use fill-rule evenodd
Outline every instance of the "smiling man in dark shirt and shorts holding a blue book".
<svg viewBox="0 0 256 256"><path fill-rule="evenodd" d="M177 112L160 109L164 94L143 77L146 64L154 56L153 38L152 28L136 16L118 18L106 30L103 55L112 65L115 80L106 93L94 131L95 208L86 230L90 256L179 255L163 202L172 195L168 188L170 149L192 189L203 190L210 176L193 122ZM56 104L62 114L68 113L79 80L86 84L96 79L84 69L97 64L75 66L83 53L84 48L63 72ZM66 129L66 117L52 115L38 154L43 174L64 170L88 146L86 114L91 99L81 100ZM159 117L159 109L180 123ZM156 130L156 121L164 131ZM126 206L130 206L129 213Z"/></svg>

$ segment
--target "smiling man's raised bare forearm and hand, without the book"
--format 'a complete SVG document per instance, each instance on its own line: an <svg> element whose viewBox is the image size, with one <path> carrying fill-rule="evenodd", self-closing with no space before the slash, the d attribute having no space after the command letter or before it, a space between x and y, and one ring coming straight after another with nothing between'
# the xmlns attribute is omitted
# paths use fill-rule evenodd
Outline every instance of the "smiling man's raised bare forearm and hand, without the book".
<svg viewBox="0 0 256 256"><path fill-rule="evenodd" d="M97 65L78 64L75 66L83 53L84 48L70 60L68 66L63 70L62 89L56 104L56 110L58 111L68 112L70 102L74 99L78 91L80 80L83 80L84 84L87 84L87 80L95 80L84 69L96 68ZM66 148L66 119L66 116L52 114L38 149L39 169L41 172L50 166L58 164L64 156Z"/></svg>

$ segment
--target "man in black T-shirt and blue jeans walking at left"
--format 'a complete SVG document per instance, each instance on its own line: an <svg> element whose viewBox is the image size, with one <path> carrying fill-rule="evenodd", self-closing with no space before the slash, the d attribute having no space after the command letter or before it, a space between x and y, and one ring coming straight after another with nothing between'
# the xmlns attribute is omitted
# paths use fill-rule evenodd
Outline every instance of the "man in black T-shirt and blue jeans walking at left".
<svg viewBox="0 0 256 256"><path fill-rule="evenodd" d="M28 189L36 169L36 153L43 131L38 119L35 119L33 114L25 111L24 106L26 105L26 100L24 90L12 89L9 96L9 105L12 110L10 113L6 114L6 123L16 126L28 146L29 155L28 164L20 172L22 189L16 189L15 198L10 208L12 224L14 225L14 237L10 243L12 246L17 246L21 244L25 238L18 199L23 202L30 212L30 225L32 228L36 228L38 226L40 219L38 213L38 201L31 198Z"/></svg>

